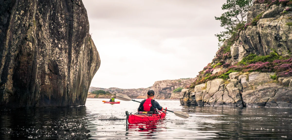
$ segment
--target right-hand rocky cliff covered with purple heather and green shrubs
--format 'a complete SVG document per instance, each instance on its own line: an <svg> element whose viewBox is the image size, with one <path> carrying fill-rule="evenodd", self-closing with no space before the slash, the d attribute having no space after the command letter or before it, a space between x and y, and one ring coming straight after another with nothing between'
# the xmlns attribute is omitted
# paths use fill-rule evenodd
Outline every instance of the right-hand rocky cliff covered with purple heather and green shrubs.
<svg viewBox="0 0 292 140"><path fill-rule="evenodd" d="M292 108L290 3L256 1L236 41L224 42L198 80L182 91L180 103Z"/></svg>

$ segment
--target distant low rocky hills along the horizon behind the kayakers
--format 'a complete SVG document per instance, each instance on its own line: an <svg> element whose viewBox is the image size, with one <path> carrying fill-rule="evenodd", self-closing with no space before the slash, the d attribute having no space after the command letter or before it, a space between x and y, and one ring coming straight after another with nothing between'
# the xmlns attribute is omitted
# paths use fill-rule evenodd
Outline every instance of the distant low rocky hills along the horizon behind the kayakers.
<svg viewBox="0 0 292 140"><path fill-rule="evenodd" d="M178 92L173 92L173 90L182 87L185 88L194 82L196 78L185 78L185 79L176 79L176 80L162 80L156 81L153 86L148 88L139 88L139 89L119 89L111 87L109 89L90 87L88 92L95 90L104 90L109 91L112 94L126 94L131 98L146 98L147 91L152 89L155 91L156 99L179 99L182 96L180 90ZM92 97L92 96L91 96ZM88 97L89 98L89 97Z"/></svg>

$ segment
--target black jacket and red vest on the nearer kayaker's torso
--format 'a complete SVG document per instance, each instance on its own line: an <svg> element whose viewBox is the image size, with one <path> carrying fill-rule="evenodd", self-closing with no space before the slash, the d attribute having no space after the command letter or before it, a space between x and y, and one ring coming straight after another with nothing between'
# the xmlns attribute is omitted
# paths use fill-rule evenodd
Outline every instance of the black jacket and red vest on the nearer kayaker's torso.
<svg viewBox="0 0 292 140"><path fill-rule="evenodd" d="M145 103L146 102L146 103ZM162 107L159 103L153 99L145 99L140 103L138 111L151 111L154 112L154 109L157 108L158 110L162 110Z"/></svg>

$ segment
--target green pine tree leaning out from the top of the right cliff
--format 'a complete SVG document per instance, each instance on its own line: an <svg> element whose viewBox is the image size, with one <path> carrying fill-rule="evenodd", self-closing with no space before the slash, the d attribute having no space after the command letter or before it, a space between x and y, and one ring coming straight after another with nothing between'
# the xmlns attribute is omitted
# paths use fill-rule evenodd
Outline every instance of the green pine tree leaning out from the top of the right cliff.
<svg viewBox="0 0 292 140"><path fill-rule="evenodd" d="M238 28L245 25L246 15L248 9L253 5L254 0L227 0L227 3L223 4L222 10L226 11L220 17L215 17L216 20L220 20L221 27L225 28L225 31L220 34L215 34L218 37L218 46L222 46L223 42L227 38L237 36Z"/></svg>

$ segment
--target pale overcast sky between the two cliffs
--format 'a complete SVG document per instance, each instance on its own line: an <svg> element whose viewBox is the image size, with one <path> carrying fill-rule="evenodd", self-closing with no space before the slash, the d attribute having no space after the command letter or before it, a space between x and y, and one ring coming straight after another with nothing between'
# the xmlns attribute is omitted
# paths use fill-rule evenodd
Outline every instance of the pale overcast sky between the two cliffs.
<svg viewBox="0 0 292 140"><path fill-rule="evenodd" d="M91 87L194 78L218 50L226 0L83 0L101 65Z"/></svg>

